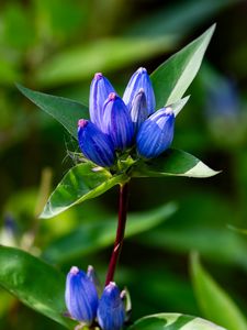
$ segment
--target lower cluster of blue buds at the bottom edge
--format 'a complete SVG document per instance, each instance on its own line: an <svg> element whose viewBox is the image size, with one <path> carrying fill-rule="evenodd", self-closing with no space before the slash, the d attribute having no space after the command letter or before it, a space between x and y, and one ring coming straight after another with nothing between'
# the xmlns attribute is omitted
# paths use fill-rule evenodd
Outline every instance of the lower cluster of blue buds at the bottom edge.
<svg viewBox="0 0 247 330"><path fill-rule="evenodd" d="M111 282L100 296L99 283L92 266L87 274L72 266L67 275L65 301L70 317L82 324L96 320L103 330L120 330L125 320L124 292Z"/></svg>

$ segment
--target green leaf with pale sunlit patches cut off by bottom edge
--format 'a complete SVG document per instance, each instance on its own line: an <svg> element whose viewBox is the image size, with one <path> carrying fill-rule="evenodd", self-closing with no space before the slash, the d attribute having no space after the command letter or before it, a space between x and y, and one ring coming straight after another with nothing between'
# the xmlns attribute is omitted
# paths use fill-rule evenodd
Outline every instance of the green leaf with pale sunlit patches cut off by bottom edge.
<svg viewBox="0 0 247 330"><path fill-rule="evenodd" d="M182 314L156 314L137 320L128 330L226 330L210 321Z"/></svg>

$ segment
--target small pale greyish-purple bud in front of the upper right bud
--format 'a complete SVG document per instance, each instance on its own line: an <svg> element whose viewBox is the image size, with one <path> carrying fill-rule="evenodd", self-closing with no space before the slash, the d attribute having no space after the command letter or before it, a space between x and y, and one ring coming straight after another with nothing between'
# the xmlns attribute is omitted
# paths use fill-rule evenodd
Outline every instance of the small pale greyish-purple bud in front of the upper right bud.
<svg viewBox="0 0 247 330"><path fill-rule="evenodd" d="M138 131L141 124L148 118L147 101L143 88L136 94L133 99L131 118L135 128L135 132Z"/></svg>

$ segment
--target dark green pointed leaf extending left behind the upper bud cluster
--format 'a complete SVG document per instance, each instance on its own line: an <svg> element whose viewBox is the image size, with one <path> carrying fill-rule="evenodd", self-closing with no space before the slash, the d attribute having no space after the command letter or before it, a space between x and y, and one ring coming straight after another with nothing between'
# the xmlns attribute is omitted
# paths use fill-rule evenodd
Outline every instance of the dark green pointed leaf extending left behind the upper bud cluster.
<svg viewBox="0 0 247 330"><path fill-rule="evenodd" d="M19 90L34 102L38 108L59 121L66 130L77 139L77 122L81 118L89 118L88 107L66 98L34 91L16 85Z"/></svg>

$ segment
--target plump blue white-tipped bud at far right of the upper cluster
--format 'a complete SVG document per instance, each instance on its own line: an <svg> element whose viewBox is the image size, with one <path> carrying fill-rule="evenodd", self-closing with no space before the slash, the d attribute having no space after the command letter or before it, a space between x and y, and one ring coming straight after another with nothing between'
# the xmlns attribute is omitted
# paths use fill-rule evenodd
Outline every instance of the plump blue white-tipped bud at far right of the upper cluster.
<svg viewBox="0 0 247 330"><path fill-rule="evenodd" d="M171 108L162 108L150 116L141 127L136 143L137 153L145 158L155 158L171 144L175 114Z"/></svg>

